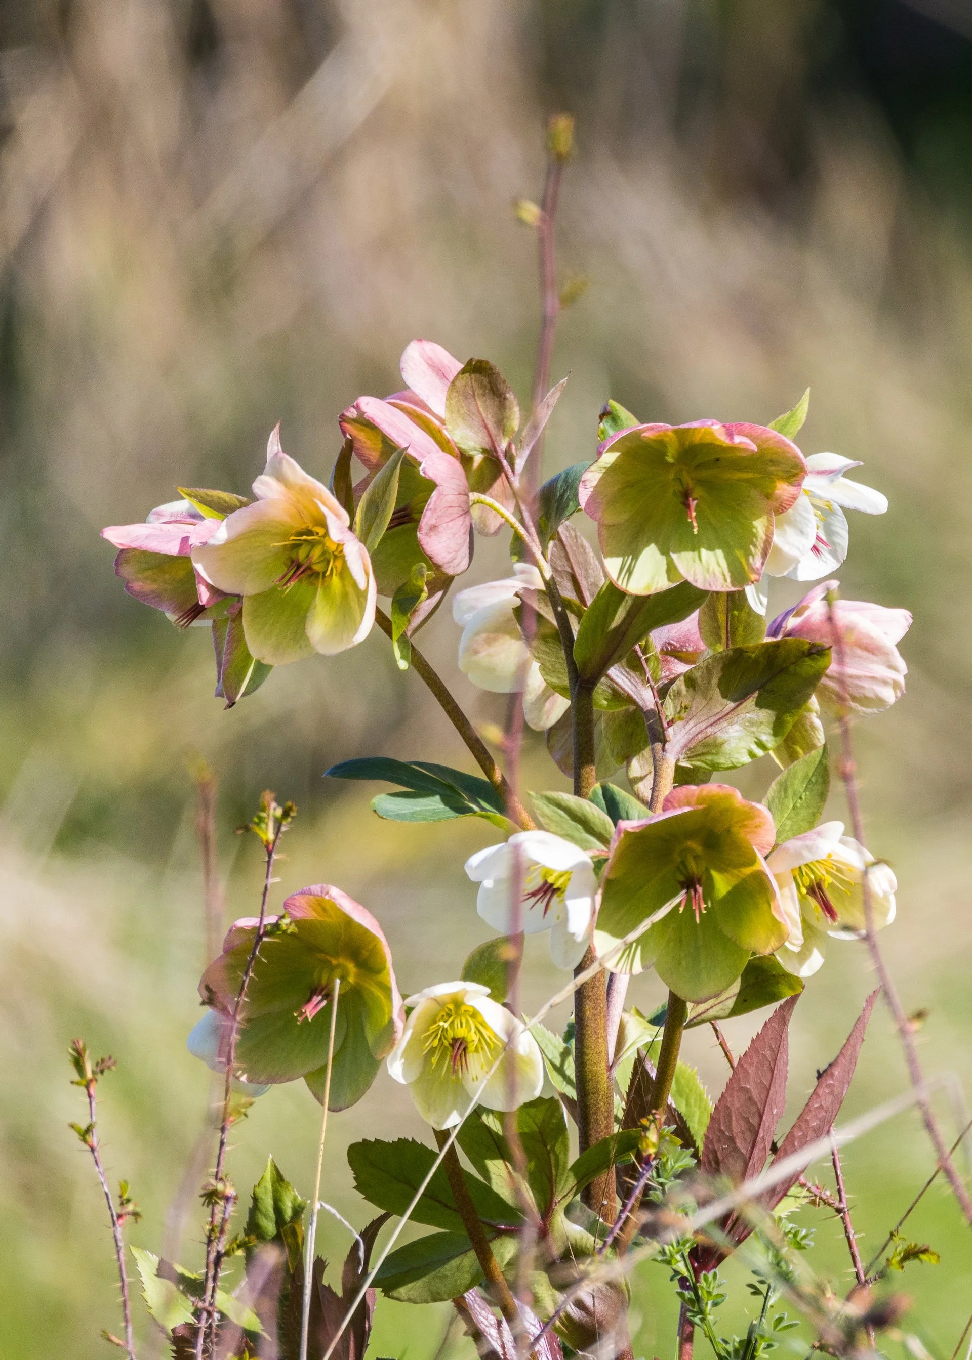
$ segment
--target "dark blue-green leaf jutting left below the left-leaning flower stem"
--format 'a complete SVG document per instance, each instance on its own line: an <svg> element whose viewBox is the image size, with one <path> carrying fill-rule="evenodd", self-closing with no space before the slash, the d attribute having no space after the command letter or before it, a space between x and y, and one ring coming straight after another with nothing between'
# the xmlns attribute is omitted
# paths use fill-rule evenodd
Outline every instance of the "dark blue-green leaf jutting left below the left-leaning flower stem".
<svg viewBox="0 0 972 1360"><path fill-rule="evenodd" d="M506 831L502 796L486 779L426 760L393 760L365 756L344 760L325 771L331 779L384 779L408 793L378 794L372 808L388 821L448 821L452 817L485 817Z"/></svg>

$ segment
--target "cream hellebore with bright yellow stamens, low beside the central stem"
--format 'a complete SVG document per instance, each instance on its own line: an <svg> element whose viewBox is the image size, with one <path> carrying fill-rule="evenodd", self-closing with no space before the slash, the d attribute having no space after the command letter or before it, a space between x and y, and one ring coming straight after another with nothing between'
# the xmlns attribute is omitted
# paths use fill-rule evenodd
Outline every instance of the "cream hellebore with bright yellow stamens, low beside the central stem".
<svg viewBox="0 0 972 1360"><path fill-rule="evenodd" d="M472 1098L487 1110L516 1110L540 1093L543 1058L536 1039L490 1000L489 987L440 982L408 997L406 1008L412 1006L388 1054L388 1072L411 1089L415 1108L433 1129L459 1123Z"/></svg>

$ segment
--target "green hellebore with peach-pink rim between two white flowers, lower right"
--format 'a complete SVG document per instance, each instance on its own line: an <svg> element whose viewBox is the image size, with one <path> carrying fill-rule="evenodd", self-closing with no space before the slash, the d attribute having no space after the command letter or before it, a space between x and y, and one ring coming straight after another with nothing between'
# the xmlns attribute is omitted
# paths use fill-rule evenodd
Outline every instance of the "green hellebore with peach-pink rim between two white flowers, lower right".
<svg viewBox="0 0 972 1360"><path fill-rule="evenodd" d="M611 957L614 972L655 971L685 1001L705 1001L773 953L790 923L764 855L773 819L722 783L683 785L663 812L618 823L603 877L594 948L607 953L644 921L655 925Z"/></svg>

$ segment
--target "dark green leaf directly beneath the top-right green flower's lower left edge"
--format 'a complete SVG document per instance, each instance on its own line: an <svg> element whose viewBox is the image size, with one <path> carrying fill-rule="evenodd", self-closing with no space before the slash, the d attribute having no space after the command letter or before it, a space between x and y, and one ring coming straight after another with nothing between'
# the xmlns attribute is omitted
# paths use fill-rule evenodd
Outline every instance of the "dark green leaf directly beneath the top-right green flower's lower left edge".
<svg viewBox="0 0 972 1360"><path fill-rule="evenodd" d="M632 596L606 581L580 620L573 656L588 684L598 681L615 662L623 661L636 642L653 628L679 623L705 600L707 592L689 581L651 596Z"/></svg>

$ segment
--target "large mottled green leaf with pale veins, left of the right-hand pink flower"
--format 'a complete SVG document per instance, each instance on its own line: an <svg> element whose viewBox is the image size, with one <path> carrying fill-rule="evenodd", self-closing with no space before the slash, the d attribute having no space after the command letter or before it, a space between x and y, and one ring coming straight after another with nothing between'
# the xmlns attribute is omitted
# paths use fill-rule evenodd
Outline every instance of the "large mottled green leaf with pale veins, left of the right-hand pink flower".
<svg viewBox="0 0 972 1360"><path fill-rule="evenodd" d="M690 770L735 770L785 737L830 664L830 649L781 638L719 651L668 691L668 755Z"/></svg>

